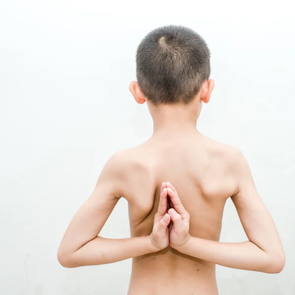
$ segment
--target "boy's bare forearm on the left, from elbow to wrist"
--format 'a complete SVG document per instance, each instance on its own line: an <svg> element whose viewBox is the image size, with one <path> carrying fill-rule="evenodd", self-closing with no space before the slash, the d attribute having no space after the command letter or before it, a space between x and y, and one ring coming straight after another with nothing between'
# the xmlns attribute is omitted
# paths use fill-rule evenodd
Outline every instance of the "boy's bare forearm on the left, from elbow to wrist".
<svg viewBox="0 0 295 295"><path fill-rule="evenodd" d="M122 239L97 236L72 254L60 253L59 262L65 267L102 265L156 251L149 236Z"/></svg>

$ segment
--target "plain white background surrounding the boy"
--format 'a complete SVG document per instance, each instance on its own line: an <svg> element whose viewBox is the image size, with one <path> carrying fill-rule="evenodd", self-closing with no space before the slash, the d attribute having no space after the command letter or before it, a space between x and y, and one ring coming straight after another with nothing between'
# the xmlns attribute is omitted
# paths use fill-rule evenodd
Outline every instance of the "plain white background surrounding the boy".
<svg viewBox="0 0 295 295"><path fill-rule="evenodd" d="M149 138L128 87L148 31L195 29L216 85L198 122L240 148L286 251L282 273L217 267L220 295L294 295L293 1L0 1L0 294L125 295L131 261L66 269L61 237L106 160ZM128 237L121 200L102 236ZM222 241L245 235L232 204ZM155 266L156 267L156 266Z"/></svg>

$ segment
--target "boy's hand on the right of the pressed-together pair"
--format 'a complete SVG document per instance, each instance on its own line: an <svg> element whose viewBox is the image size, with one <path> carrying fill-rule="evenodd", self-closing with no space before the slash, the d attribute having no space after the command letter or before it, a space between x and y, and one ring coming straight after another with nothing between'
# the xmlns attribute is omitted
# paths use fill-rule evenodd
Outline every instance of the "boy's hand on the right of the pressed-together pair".
<svg viewBox="0 0 295 295"><path fill-rule="evenodd" d="M170 246L179 249L190 238L189 235L189 213L184 209L178 197L175 187L166 182L167 192L170 197L173 208L170 208L168 213L173 221L173 226L170 230Z"/></svg>

